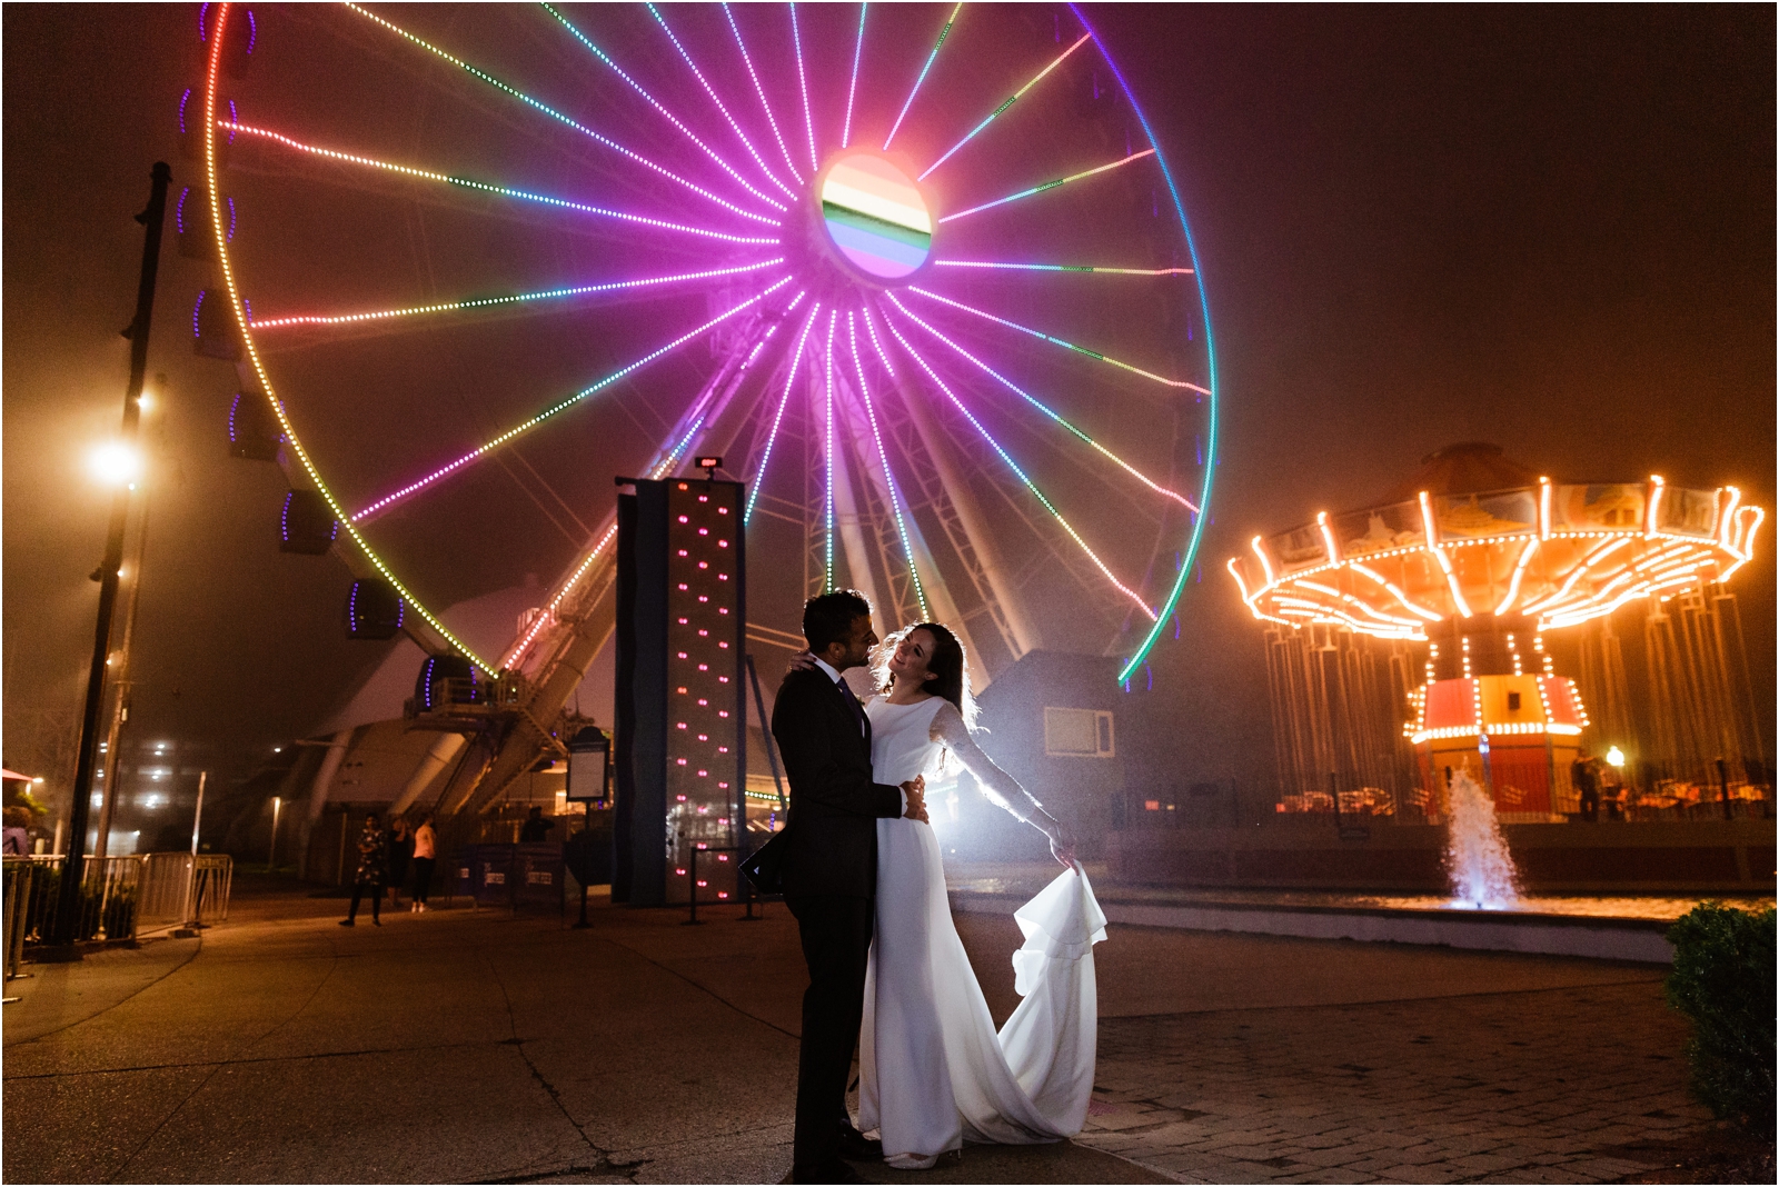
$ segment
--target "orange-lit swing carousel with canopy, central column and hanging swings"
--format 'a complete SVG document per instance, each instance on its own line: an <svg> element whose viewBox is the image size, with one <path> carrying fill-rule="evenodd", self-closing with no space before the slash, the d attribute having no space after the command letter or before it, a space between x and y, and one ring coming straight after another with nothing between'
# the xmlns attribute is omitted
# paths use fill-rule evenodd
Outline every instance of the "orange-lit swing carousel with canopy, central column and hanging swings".
<svg viewBox="0 0 1779 1187"><path fill-rule="evenodd" d="M1388 775L1366 780L1363 771L1395 739L1366 737L1357 723L1332 729L1332 691L1336 700L1372 702L1332 709L1348 720L1382 720L1388 705L1407 705L1402 732L1423 796L1445 785L1445 771L1468 766L1519 819L1560 819L1590 718L1574 681L1557 673L1546 634L1603 622L1637 601L1663 618L1669 604L1717 613L1711 595L1751 560L1763 519L1736 487L1685 489L1658 474L1553 482L1496 446L1464 444L1427 458L1377 506L1322 512L1290 531L1254 537L1249 554L1229 558L1228 569L1242 601L1272 629L1274 704L1286 736L1281 773L1299 787L1318 787L1331 771L1359 771L1361 782L1388 787ZM1708 688L1733 681L1736 659L1722 627L1719 638L1711 633L1708 625L1699 640L1710 652L1701 652L1703 663L1670 665L1697 670L1688 679L1701 688L1690 697L1681 689L1679 698L1724 702L1708 704L1699 721L1704 753L1715 746L1719 755L1751 755L1738 737L1735 695L1713 697ZM1368 665L1352 649L1359 638L1386 645L1386 670L1370 684ZM1416 665L1409 647L1418 643L1427 650ZM1359 679L1327 677L1286 656L1306 649L1338 654L1336 672ZM1663 657L1651 654L1651 665ZM1622 700L1606 688L1610 679L1603 684L1596 695ZM1316 698L1320 711L1308 707Z"/></svg>

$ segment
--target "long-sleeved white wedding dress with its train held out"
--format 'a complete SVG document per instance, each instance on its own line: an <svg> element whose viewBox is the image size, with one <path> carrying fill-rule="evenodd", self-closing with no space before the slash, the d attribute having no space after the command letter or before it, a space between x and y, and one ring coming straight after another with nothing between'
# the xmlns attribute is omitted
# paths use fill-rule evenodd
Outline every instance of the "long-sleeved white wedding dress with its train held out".
<svg viewBox="0 0 1779 1187"><path fill-rule="evenodd" d="M1025 789L970 737L957 707L932 697L911 705L875 698L872 769L881 784L959 762L989 798L1019 814ZM1025 1000L994 1032L945 894L932 828L877 821L877 926L859 1036L859 1128L879 1130L884 1162L930 1167L975 1143L1073 1137L1094 1086L1098 1002L1094 944L1105 915L1087 876L1064 871L1014 912L1025 945L1014 952Z"/></svg>

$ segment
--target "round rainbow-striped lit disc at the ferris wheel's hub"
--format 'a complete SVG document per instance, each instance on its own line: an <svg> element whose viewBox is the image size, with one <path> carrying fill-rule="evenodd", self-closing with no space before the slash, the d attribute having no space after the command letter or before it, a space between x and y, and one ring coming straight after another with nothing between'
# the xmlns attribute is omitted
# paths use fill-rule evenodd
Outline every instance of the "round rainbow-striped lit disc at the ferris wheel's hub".
<svg viewBox="0 0 1779 1187"><path fill-rule="evenodd" d="M913 275L932 254L927 199L873 153L850 153L827 167L822 224L847 263L879 281Z"/></svg>

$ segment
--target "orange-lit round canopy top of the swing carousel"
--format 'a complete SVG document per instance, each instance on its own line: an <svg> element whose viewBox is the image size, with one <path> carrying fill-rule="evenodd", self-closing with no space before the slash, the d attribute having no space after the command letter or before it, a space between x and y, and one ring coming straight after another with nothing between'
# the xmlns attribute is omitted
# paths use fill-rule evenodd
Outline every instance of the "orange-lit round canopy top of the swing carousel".
<svg viewBox="0 0 1779 1187"><path fill-rule="evenodd" d="M1551 482L1496 446L1461 444L1379 505L1254 537L1228 567L1268 622L1407 640L1485 617L1544 631L1727 581L1763 519L1736 487Z"/></svg>

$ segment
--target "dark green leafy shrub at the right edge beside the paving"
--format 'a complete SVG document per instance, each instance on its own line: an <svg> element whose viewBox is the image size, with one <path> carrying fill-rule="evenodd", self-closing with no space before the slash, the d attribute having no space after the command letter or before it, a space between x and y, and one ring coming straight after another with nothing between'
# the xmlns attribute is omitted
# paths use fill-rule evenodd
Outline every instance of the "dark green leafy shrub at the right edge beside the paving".
<svg viewBox="0 0 1779 1187"><path fill-rule="evenodd" d="M1774 1125L1774 910L1701 903L1669 928L1667 999L1692 1020L1694 1095L1756 1132Z"/></svg>

